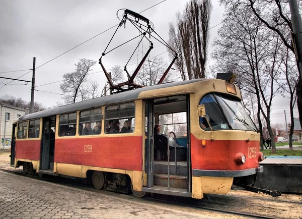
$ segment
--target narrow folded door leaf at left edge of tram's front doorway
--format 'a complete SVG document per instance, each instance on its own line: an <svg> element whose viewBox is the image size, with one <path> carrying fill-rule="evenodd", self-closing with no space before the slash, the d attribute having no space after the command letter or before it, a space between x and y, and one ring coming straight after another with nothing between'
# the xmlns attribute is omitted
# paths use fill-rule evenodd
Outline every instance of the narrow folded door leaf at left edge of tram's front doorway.
<svg viewBox="0 0 302 219"><path fill-rule="evenodd" d="M148 99L145 105L146 115L146 142L145 142L145 161L147 171L147 187L154 186L154 105L153 99Z"/></svg>

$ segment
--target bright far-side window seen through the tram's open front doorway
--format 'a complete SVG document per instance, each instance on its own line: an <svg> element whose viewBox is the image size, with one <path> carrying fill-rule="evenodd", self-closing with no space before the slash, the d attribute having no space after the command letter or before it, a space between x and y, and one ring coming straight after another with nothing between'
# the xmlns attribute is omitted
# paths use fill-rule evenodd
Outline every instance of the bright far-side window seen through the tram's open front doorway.
<svg viewBox="0 0 302 219"><path fill-rule="evenodd" d="M174 132L177 137L187 135L187 114L186 112L163 114L159 116L159 125L162 134L168 135Z"/></svg>

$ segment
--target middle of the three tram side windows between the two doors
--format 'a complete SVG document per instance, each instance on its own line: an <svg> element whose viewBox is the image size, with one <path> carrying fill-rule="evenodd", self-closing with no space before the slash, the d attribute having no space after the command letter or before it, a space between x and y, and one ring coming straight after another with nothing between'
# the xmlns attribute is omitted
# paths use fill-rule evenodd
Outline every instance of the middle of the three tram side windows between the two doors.
<svg viewBox="0 0 302 219"><path fill-rule="evenodd" d="M102 129L102 108L80 113L79 135L99 135Z"/></svg>

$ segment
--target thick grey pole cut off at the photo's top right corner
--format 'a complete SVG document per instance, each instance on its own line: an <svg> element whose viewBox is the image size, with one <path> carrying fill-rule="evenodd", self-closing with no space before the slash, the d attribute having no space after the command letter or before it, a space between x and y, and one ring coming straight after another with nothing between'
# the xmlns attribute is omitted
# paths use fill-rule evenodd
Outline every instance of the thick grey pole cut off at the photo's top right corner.
<svg viewBox="0 0 302 219"><path fill-rule="evenodd" d="M289 0L289 9L291 14L291 25L293 35L293 46L295 48L296 59L299 63L300 77L302 78L302 22L299 14L298 4L296 0Z"/></svg>

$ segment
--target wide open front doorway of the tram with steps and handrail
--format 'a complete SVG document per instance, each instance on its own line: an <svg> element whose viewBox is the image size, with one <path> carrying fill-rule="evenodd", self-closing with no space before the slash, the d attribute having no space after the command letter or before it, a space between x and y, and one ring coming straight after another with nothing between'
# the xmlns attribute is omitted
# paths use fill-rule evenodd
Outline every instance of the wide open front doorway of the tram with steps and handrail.
<svg viewBox="0 0 302 219"><path fill-rule="evenodd" d="M189 99L189 94L178 94L147 99L143 103L147 175L143 192L192 196ZM171 133L175 135L169 136Z"/></svg>

